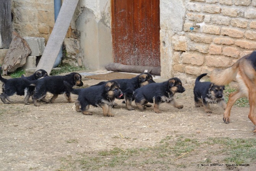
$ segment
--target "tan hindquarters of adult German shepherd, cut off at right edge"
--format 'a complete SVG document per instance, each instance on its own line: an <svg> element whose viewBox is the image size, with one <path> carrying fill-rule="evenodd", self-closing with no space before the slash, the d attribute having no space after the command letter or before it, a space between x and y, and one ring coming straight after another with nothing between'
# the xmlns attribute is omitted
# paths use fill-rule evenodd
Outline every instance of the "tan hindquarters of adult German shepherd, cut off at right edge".
<svg viewBox="0 0 256 171"><path fill-rule="evenodd" d="M253 134L256 134L256 51L243 56L226 69L215 69L210 79L216 85L226 85L234 79L237 80L239 89L229 95L223 120L229 123L233 104L238 98L247 97L250 103L248 118L253 122Z"/></svg>

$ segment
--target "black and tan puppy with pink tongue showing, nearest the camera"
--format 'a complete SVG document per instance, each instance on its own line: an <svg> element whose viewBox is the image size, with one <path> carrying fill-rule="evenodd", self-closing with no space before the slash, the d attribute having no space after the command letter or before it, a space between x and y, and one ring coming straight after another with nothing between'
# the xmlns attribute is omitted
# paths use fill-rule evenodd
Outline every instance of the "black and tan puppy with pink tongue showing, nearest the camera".
<svg viewBox="0 0 256 171"><path fill-rule="evenodd" d="M122 97L120 85L115 81L108 81L105 84L91 86L86 89L73 89L68 82L64 81L66 89L71 93L78 95L76 100L76 111L83 112L84 115L92 115L89 112L89 106L100 106L103 109L104 116L114 116L112 106L115 98ZM81 108L80 108L81 106Z"/></svg>

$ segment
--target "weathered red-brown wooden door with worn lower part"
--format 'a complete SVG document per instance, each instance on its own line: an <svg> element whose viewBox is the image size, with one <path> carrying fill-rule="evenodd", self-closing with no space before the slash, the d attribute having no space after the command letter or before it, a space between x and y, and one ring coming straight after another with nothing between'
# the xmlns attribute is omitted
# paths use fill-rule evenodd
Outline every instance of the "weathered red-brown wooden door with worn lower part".
<svg viewBox="0 0 256 171"><path fill-rule="evenodd" d="M113 61L160 66L159 0L111 0Z"/></svg>

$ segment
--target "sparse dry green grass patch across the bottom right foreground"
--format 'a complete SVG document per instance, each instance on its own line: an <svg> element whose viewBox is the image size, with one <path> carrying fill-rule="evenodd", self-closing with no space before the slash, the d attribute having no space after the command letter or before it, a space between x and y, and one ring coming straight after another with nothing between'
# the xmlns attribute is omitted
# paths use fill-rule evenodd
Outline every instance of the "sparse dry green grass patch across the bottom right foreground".
<svg viewBox="0 0 256 171"><path fill-rule="evenodd" d="M218 150L209 145L219 145ZM227 137L208 138L200 142L198 139L183 136L167 136L154 147L102 150L94 153L78 153L75 156L61 158L63 170L116 170L118 168L132 168L149 166L152 170L161 166L162 170L177 170L195 165L198 153L207 150L206 160L202 163L211 164L212 157L225 156L225 164L247 164L256 161L256 139L231 139ZM218 153L216 153L218 151ZM194 156L195 155L195 156ZM186 158L190 156L190 160ZM195 160L193 160L193 158ZM180 162L179 160L183 161ZM184 162L185 161L185 162ZM177 162L177 163L176 163ZM198 164L198 163L197 163ZM146 170L148 168L145 168ZM158 168L159 169L159 168Z"/></svg>

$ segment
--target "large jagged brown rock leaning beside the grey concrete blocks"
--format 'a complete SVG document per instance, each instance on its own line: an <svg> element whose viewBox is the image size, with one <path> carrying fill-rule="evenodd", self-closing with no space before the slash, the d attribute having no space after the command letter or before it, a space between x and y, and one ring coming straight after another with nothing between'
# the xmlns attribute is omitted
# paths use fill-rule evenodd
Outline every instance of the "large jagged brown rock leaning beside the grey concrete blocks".
<svg viewBox="0 0 256 171"><path fill-rule="evenodd" d="M15 71L25 65L27 56L31 53L28 43L13 31L9 50L3 60L3 75Z"/></svg>

